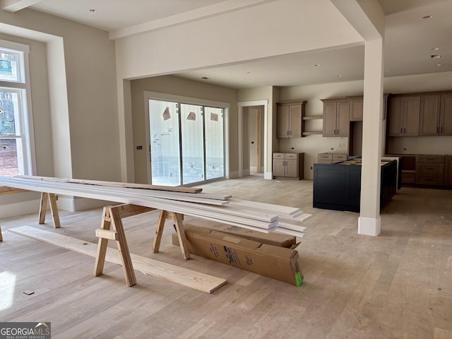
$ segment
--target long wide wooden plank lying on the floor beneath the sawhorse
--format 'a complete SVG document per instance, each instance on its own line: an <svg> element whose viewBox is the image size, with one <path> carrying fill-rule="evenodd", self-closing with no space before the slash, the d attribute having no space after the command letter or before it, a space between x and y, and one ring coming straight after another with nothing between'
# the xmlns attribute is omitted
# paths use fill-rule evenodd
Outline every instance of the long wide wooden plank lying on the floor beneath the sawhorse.
<svg viewBox="0 0 452 339"><path fill-rule="evenodd" d="M66 237L65 235L54 232L39 230L30 226L15 227L9 229L8 231L29 237L31 239L40 240L42 242L46 242L47 244L56 245L64 249L86 254L88 256L95 257L97 254L97 244L84 242L83 240L72 237ZM213 275L177 267L169 263L162 263L161 261L145 258L144 256L131 254L131 258L133 268L135 268L135 270L202 292L212 293L227 283L227 280L214 277ZM117 249L108 248L105 260L110 263L121 264L121 259L119 258Z"/></svg>

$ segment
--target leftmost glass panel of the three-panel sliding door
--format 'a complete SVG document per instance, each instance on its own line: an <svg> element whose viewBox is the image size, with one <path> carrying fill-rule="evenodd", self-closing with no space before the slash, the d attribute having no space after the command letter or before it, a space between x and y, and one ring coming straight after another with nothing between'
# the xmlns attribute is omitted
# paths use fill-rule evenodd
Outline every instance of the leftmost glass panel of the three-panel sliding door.
<svg viewBox="0 0 452 339"><path fill-rule="evenodd" d="M151 184L179 186L181 180L179 105L149 100Z"/></svg>

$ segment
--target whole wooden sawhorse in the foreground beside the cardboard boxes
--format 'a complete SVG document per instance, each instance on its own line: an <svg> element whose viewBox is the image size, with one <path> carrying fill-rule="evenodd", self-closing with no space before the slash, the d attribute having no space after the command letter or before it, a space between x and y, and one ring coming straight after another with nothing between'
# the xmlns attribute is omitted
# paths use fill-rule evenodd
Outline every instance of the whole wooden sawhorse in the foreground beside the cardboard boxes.
<svg viewBox="0 0 452 339"><path fill-rule="evenodd" d="M126 234L124 233L124 227L121 219L127 218L132 215L137 215L145 212L155 210L155 208L148 208L143 206L124 204L118 206L105 206L102 213L102 222L100 228L96 232L96 237L99 238L97 244L97 256L95 260L95 266L93 275L98 277L102 275L105 263L105 255L107 254L108 240L115 240L117 242L119 256L121 256L122 268L126 277L127 286L133 286L136 284L136 276L133 271L133 264L130 256L129 246L126 242ZM174 220L174 225L179 237L179 244L181 244L182 256L184 259L190 258L189 246L186 241L183 215L180 213L168 212L166 210L160 210L160 217L155 230L155 238L153 244L153 253L157 253L160 248L160 240L162 238L163 227L165 226L165 220ZM113 226L113 230L110 227Z"/></svg>

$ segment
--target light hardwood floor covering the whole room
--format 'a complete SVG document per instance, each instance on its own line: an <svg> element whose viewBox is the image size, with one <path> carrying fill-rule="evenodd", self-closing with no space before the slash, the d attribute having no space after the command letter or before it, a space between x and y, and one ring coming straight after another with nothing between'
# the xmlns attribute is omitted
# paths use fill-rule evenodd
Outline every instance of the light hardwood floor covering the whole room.
<svg viewBox="0 0 452 339"><path fill-rule="evenodd" d="M7 232L30 225L96 242L101 209L61 211L62 228L37 214L0 219L0 321L50 321L52 338L452 338L452 190L403 188L381 214L381 234L357 234L359 214L312 208L312 182L258 176L205 192L301 208L301 287L193 256L182 259L165 226L151 254L156 212L124 219L134 254L228 280L211 295ZM38 206L37 206L38 208ZM187 218L189 219L189 218ZM114 247L114 242L109 246ZM33 291L25 295L24 291Z"/></svg>

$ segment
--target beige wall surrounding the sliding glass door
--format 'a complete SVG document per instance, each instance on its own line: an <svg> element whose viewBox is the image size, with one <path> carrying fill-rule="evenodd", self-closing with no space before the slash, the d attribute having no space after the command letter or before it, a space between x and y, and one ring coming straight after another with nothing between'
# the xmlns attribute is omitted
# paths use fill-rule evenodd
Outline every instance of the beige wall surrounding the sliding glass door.
<svg viewBox="0 0 452 339"><path fill-rule="evenodd" d="M145 145L142 150L137 150L136 147L133 150L133 168L136 182L148 183L148 157L146 152L149 149L149 144L146 140L145 91L229 103L230 109L226 124L226 126L229 126L226 131L229 136L229 153L226 155L227 167L229 168L229 177L237 177L239 170L237 158L237 90L199 81L190 81L177 76L156 76L131 81L133 145Z"/></svg>

